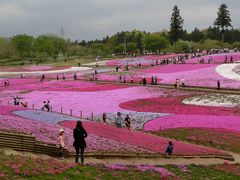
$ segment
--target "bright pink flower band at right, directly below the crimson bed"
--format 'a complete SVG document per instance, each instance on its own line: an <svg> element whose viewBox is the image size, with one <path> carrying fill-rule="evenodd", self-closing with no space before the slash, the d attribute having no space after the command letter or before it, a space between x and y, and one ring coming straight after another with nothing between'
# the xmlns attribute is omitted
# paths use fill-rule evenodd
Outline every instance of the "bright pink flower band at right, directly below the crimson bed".
<svg viewBox="0 0 240 180"><path fill-rule="evenodd" d="M145 131L159 131L174 128L216 128L240 131L239 116L214 115L171 115L148 121Z"/></svg>

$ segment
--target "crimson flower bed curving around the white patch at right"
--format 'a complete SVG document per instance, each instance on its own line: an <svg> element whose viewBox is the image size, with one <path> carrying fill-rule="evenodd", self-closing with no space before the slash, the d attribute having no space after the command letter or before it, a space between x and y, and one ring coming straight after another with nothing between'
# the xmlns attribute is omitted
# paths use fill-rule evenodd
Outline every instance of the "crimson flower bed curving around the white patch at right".
<svg viewBox="0 0 240 180"><path fill-rule="evenodd" d="M182 100L187 97L188 96L170 96L136 99L121 103L119 106L123 109L139 112L215 116L240 115L238 107L207 107L183 104Z"/></svg>

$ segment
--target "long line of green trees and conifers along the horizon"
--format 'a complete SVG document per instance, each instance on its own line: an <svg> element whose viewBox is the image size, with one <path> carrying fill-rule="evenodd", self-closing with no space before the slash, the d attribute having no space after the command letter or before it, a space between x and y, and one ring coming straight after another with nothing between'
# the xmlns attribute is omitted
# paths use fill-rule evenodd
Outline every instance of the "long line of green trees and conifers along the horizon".
<svg viewBox="0 0 240 180"><path fill-rule="evenodd" d="M113 54L144 54L146 52L193 52L197 49L238 48L240 30L231 25L230 12L222 4L213 26L187 32L183 29L184 20L180 9L174 6L170 19L170 30L150 33L140 30L122 31L102 40L75 41L53 36L33 37L19 34L10 38L0 37L0 59L44 59L59 56L102 56Z"/></svg>

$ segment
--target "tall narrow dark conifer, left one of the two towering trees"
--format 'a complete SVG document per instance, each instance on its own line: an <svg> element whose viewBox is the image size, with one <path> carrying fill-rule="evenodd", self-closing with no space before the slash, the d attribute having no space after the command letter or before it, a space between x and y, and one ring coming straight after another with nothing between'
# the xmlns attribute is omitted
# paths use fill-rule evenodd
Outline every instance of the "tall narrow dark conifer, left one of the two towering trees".
<svg viewBox="0 0 240 180"><path fill-rule="evenodd" d="M171 17L170 33L169 33L170 40L174 43L179 39L179 37L181 36L181 33L183 32L183 26L182 26L183 22L184 20L180 15L180 10L175 5L173 8L173 13Z"/></svg>

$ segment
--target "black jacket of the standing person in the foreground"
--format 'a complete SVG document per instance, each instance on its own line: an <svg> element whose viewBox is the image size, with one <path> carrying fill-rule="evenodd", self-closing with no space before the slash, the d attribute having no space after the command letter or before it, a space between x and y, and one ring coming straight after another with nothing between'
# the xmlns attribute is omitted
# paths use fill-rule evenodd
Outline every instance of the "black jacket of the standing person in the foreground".
<svg viewBox="0 0 240 180"><path fill-rule="evenodd" d="M88 136L84 128L75 128L73 130L74 147L86 147L85 138Z"/></svg>

